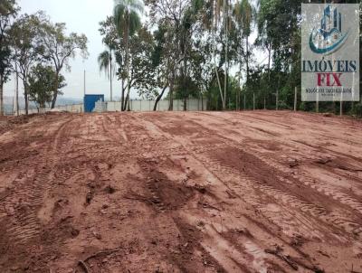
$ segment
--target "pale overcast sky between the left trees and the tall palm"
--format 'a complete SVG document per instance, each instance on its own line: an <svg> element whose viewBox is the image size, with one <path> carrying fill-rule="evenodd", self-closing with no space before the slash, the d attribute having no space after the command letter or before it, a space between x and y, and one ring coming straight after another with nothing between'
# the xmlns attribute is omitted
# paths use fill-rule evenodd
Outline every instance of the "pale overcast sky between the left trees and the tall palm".
<svg viewBox="0 0 362 273"><path fill-rule="evenodd" d="M71 72L62 72L68 84L63 89L63 97L82 98L84 70L86 71L87 93L101 93L109 97L110 81L104 73L100 74L97 62L98 55L104 50L98 29L100 21L112 14L113 0L17 0L17 2L22 8L22 14L33 14L43 10L51 17L52 22L66 23L68 33L84 33L89 39L89 58L82 61L81 57L78 56L70 62ZM114 82L113 96L119 97L119 85L119 81ZM23 93L22 85L20 85L20 90ZM5 86L5 96L13 95L14 81Z"/></svg>

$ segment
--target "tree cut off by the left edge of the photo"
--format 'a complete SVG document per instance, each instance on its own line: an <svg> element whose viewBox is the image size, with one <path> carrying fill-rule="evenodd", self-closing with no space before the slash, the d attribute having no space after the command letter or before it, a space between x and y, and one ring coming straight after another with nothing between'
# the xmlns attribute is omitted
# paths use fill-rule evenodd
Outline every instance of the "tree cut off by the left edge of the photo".
<svg viewBox="0 0 362 273"><path fill-rule="evenodd" d="M17 10L14 0L0 2L0 116L4 115L4 84L12 71L9 30Z"/></svg>

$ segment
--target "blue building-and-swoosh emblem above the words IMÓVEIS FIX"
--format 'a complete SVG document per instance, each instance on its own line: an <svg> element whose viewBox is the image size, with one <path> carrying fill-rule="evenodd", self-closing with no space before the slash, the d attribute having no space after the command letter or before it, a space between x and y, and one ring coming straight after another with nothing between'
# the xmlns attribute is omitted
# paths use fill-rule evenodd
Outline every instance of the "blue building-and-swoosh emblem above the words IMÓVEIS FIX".
<svg viewBox="0 0 362 273"><path fill-rule="evenodd" d="M310 33L310 50L318 54L331 54L347 41L348 32L342 33L342 15L330 5L324 10L320 28Z"/></svg>

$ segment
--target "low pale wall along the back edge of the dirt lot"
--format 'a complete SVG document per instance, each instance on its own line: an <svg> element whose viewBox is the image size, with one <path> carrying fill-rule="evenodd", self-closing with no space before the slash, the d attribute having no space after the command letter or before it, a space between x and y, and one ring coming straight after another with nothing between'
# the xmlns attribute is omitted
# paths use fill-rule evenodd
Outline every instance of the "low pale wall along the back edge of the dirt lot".
<svg viewBox="0 0 362 273"><path fill-rule="evenodd" d="M130 101L130 110L137 112L147 112L153 111L155 106L155 100L141 100L135 99ZM204 103L204 107L203 107ZM105 102L104 109L107 112L116 112L120 111L120 102L119 101L108 101ZM160 100L157 104L157 111L167 111L169 107L169 100ZM100 111L100 108L97 108ZM186 100L186 109L187 111L202 111L206 109L206 99L202 102L201 99L187 99ZM50 111L51 108L45 108L45 112ZM64 111L70 113L82 113L84 111L83 104L72 104L72 105L64 105L57 106L55 111ZM184 110L184 100L174 99L174 111L182 111ZM25 110L19 111L20 115L25 114ZM29 114L38 113L37 109L29 109ZM16 113L15 113L16 115Z"/></svg>

